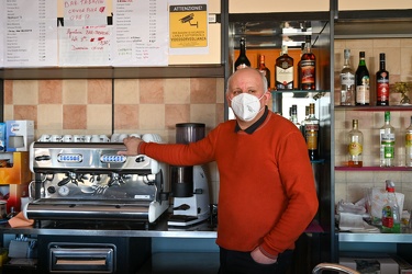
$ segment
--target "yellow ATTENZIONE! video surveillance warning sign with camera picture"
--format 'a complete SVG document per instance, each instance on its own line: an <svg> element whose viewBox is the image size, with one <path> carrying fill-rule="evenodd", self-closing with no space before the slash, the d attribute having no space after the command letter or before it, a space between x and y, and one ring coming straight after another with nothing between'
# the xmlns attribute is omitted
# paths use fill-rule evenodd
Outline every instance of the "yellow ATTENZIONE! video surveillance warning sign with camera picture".
<svg viewBox="0 0 412 274"><path fill-rule="evenodd" d="M170 48L208 46L207 4L170 5Z"/></svg>

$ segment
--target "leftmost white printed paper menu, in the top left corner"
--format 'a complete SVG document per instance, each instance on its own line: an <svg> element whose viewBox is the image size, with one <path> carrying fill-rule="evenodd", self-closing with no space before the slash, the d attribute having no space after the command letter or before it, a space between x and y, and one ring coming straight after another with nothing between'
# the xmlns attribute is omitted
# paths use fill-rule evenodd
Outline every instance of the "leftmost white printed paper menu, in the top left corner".
<svg viewBox="0 0 412 274"><path fill-rule="evenodd" d="M2 1L4 67L57 66L57 7L48 0Z"/></svg>

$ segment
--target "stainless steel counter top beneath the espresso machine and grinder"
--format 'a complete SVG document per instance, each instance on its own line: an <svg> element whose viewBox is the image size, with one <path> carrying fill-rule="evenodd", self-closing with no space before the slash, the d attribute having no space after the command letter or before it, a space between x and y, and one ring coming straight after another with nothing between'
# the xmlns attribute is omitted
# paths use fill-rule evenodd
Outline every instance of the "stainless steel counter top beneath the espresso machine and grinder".
<svg viewBox="0 0 412 274"><path fill-rule="evenodd" d="M0 225L2 233L60 235L92 237L169 237L169 238L216 238L216 228L208 221L186 228L170 228L167 216L160 216L155 224L130 221L45 221L40 226L12 228Z"/></svg>

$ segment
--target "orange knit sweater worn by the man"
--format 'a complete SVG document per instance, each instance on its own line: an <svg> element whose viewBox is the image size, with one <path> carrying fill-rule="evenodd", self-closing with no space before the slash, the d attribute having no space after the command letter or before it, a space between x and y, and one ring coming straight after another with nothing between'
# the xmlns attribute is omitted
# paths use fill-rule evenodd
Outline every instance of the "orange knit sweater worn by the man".
<svg viewBox="0 0 412 274"><path fill-rule="evenodd" d="M269 112L253 133L220 124L189 145L145 142L141 153L174 165L216 161L220 174L216 243L229 250L260 247L268 256L294 248L318 210L314 176L302 134Z"/></svg>

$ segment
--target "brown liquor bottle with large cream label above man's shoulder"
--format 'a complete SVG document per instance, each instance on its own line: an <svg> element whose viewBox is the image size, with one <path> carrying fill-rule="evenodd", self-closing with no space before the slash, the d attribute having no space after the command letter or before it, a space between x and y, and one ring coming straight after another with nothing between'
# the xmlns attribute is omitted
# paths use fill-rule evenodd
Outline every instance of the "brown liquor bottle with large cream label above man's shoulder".
<svg viewBox="0 0 412 274"><path fill-rule="evenodd" d="M281 54L276 58L275 81L277 90L293 89L293 58L288 55L287 45L282 45Z"/></svg>

